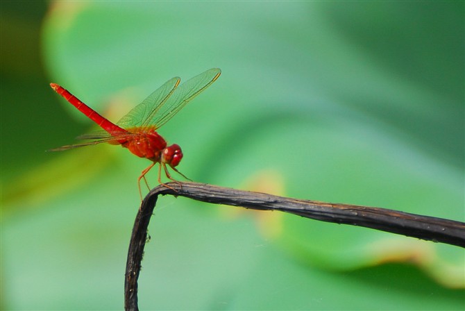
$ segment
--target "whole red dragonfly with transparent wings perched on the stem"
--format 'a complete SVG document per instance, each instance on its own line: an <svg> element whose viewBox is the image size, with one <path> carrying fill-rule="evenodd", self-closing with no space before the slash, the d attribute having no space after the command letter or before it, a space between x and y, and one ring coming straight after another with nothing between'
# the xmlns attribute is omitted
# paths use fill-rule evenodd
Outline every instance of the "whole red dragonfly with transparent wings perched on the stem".
<svg viewBox="0 0 465 311"><path fill-rule="evenodd" d="M130 110L116 124L99 115L99 113L65 90L65 88L56 83L50 83L53 90L105 130L78 137L80 140L88 140L87 142L62 146L52 149L52 151L74 149L81 146L100 144L101 142L121 144L121 146L126 147L138 157L147 158L152 161L151 165L144 169L139 178L137 178L139 193L142 199L140 180L144 178L147 187L149 187L145 175L155 163L160 164L160 167L158 167L158 183L162 185L164 185L161 180L162 167L164 174L169 179L174 180L169 174L167 165L184 178L187 178L176 169L176 166L183 158L183 151L181 151L180 146L178 144L167 146L167 142L157 131L158 128L174 117L189 101L214 83L220 74L220 69L212 68L198 76L194 76L194 78L186 81L180 87L178 87L180 78L171 78L150 94L142 103Z"/></svg>

